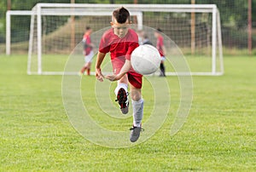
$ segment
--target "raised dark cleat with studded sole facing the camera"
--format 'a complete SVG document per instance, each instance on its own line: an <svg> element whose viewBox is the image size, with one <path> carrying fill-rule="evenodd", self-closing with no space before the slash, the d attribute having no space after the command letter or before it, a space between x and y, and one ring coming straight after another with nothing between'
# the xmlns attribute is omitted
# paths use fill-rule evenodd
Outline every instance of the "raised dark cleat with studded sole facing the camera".
<svg viewBox="0 0 256 172"><path fill-rule="evenodd" d="M128 93L126 93L125 89L120 88L117 94L116 100L119 102L119 106L121 112L123 114L127 114L129 110L129 100L128 100Z"/></svg>

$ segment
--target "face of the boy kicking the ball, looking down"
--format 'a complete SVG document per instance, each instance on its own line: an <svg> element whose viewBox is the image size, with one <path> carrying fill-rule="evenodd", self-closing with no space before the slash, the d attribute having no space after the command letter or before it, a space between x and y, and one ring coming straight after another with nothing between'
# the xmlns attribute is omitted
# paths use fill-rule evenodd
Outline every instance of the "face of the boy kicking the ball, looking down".
<svg viewBox="0 0 256 172"><path fill-rule="evenodd" d="M111 22L111 26L113 27L113 33L122 38L125 37L125 35L128 32L128 29L130 27L130 22L127 19L125 23L120 24L116 19L113 18L113 21Z"/></svg>

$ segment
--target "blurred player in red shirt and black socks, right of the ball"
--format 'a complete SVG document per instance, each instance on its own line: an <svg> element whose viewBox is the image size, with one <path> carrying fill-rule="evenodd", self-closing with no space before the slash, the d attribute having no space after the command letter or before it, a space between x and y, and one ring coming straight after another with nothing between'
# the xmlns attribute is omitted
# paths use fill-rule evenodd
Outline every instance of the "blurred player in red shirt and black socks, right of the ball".
<svg viewBox="0 0 256 172"><path fill-rule="evenodd" d="M157 42L156 42L156 49L158 49L160 56L161 56L161 63L160 63L160 77L166 77L166 67L164 65L164 62L166 60L166 47L164 45L164 37L161 36L160 32L162 32L160 30L160 28L158 28L155 32L154 32L154 37L157 38Z"/></svg>

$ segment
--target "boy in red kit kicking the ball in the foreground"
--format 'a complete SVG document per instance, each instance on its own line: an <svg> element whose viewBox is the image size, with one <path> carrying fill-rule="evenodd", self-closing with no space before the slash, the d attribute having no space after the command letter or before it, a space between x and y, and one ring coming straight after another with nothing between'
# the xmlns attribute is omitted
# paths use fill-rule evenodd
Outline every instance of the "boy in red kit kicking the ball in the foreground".
<svg viewBox="0 0 256 172"><path fill-rule="evenodd" d="M128 82L131 83L131 103L133 107L133 127L131 128L131 142L137 141L140 136L143 120L143 98L141 89L143 76L135 72L131 67L131 53L138 44L137 33L131 30L130 14L125 8L115 9L110 22L112 28L102 36L99 52L96 60L96 78L103 81L107 78L110 81L118 81L114 90L121 111L128 112ZM113 75L103 76L101 71L102 60L110 52L113 66Z"/></svg>

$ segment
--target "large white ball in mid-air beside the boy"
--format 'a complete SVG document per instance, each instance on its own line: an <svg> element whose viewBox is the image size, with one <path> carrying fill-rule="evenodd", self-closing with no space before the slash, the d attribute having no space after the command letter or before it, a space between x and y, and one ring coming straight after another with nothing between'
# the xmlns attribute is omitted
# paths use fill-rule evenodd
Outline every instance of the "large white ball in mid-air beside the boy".
<svg viewBox="0 0 256 172"><path fill-rule="evenodd" d="M131 53L131 66L142 75L156 72L159 69L160 61L160 53L152 45L140 45Z"/></svg>

